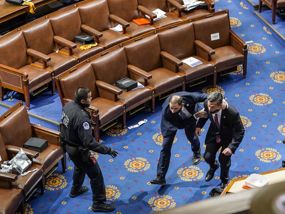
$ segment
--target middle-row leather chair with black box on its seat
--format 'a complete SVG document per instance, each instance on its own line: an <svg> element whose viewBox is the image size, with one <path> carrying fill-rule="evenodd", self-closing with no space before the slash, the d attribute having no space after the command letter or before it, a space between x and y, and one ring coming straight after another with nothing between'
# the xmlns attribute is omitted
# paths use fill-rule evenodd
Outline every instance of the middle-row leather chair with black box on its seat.
<svg viewBox="0 0 285 214"><path fill-rule="evenodd" d="M124 103L124 111L128 112L135 107L152 99L151 111L154 111L154 97L152 89L149 88L151 74L142 71L135 66L128 65L124 48L117 49L91 62L96 80L101 80L109 85L113 90L119 90L114 87L116 81L131 78L143 84L144 88L137 88L131 91L123 91L118 95L118 100ZM99 90L100 93L100 90ZM100 112L100 111L99 111ZM124 115L125 116L125 115Z"/></svg>

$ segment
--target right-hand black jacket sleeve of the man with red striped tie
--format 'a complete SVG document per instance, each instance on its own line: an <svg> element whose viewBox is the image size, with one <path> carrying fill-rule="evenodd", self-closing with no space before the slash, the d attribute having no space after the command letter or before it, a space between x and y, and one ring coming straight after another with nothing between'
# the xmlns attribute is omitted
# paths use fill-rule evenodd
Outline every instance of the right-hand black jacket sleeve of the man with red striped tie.
<svg viewBox="0 0 285 214"><path fill-rule="evenodd" d="M238 112L234 115L234 136L232 142L229 144L228 148L234 153L237 150L237 147L240 145L243 136L245 135L245 129L241 122L241 118Z"/></svg>

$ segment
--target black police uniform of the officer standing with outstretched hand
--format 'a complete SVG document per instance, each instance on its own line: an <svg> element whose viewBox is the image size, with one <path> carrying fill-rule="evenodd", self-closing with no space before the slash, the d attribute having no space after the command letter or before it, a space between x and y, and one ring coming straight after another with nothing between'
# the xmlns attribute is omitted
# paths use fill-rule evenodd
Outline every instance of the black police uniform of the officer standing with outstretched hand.
<svg viewBox="0 0 285 214"><path fill-rule="evenodd" d="M66 148L70 160L74 163L73 192L80 191L85 173L90 178L93 201L106 201L105 184L98 163L94 164L89 158L83 160L79 148L87 148L100 154L108 154L110 147L102 145L92 137L91 116L82 103L75 99L66 103L61 116L62 126L60 138Z"/></svg>

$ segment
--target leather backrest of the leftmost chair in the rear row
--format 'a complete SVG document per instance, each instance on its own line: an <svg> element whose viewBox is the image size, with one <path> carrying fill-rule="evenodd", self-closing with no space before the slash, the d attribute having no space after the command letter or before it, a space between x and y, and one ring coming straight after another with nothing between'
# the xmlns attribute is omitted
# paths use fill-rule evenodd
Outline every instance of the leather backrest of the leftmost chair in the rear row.
<svg viewBox="0 0 285 214"><path fill-rule="evenodd" d="M0 42L0 64L19 69L29 64L26 42L21 31L2 38Z"/></svg>

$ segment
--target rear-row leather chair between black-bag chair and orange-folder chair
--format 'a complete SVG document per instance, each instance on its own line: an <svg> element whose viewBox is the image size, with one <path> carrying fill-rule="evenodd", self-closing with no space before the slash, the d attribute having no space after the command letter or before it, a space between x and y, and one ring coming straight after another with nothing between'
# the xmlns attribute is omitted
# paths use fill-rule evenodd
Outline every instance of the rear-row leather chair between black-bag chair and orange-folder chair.
<svg viewBox="0 0 285 214"><path fill-rule="evenodd" d="M92 36L95 36L97 43L103 45L105 49L128 40L126 35L109 29L114 27L114 25L111 25L111 20L122 25L124 29L129 24L114 14L110 16L107 0L88 1L78 6L78 8L82 24L98 31Z"/></svg>

